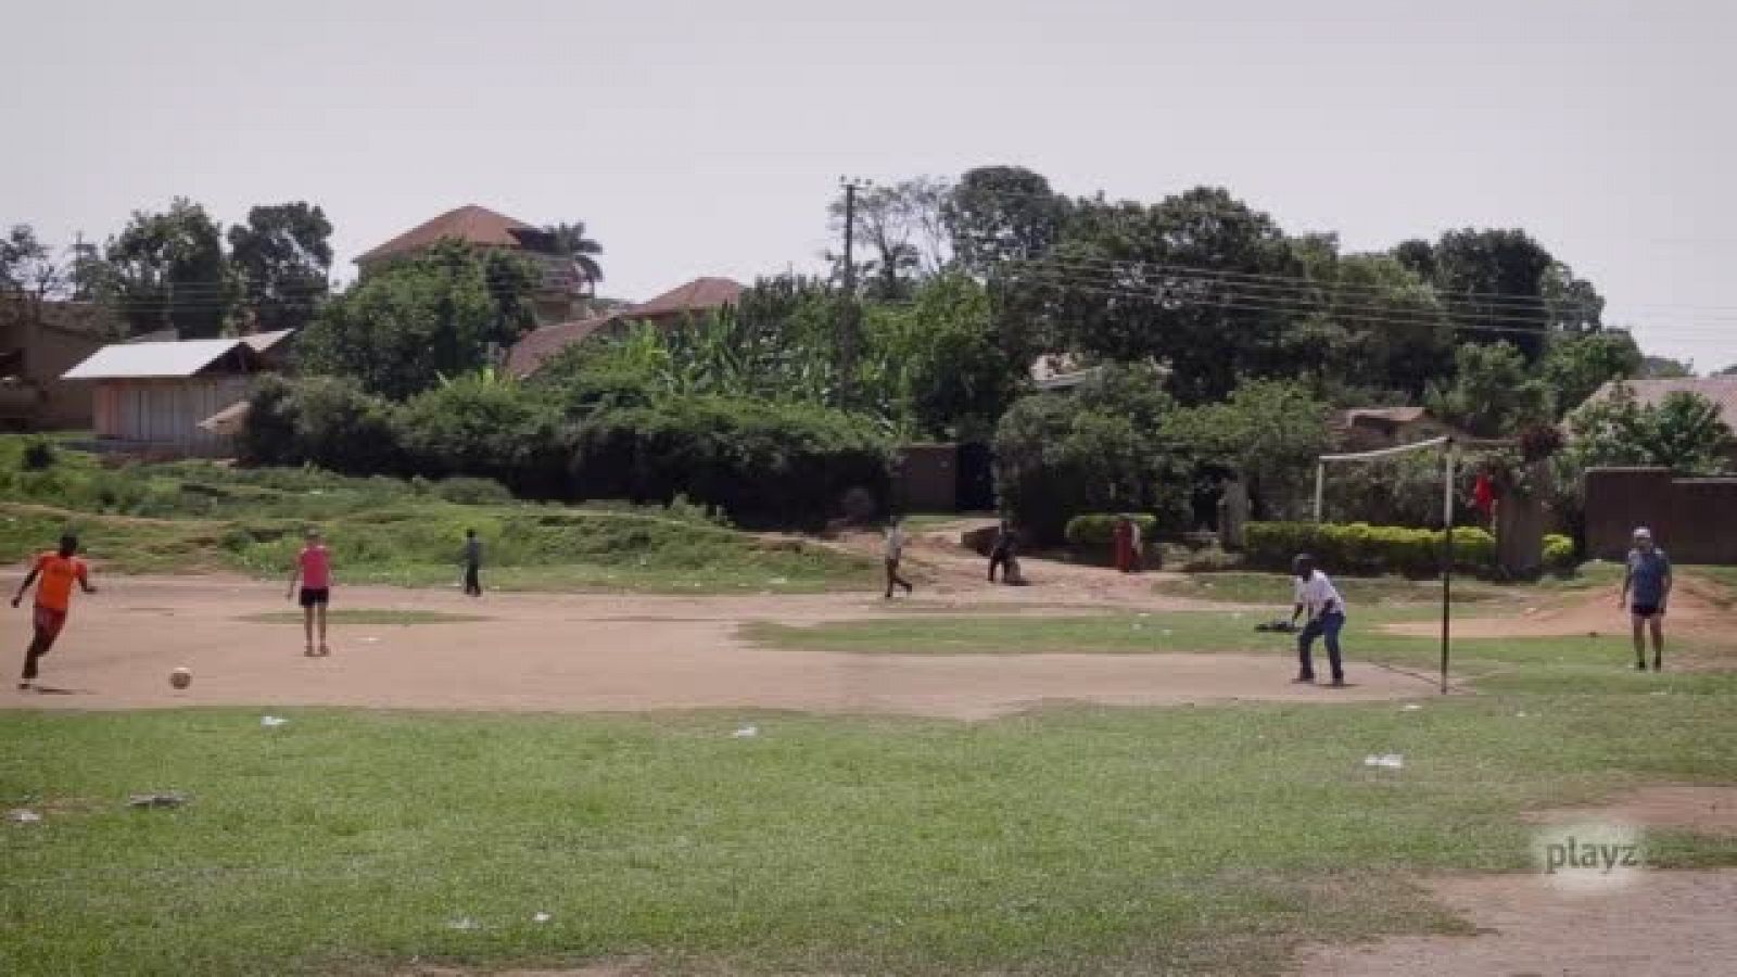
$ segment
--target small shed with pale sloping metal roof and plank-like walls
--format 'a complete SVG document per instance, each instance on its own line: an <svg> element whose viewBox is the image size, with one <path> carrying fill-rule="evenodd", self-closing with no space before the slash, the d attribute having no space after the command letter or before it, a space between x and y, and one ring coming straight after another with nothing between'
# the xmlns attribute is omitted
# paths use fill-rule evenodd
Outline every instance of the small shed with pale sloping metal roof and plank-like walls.
<svg viewBox="0 0 1737 977"><path fill-rule="evenodd" d="M188 339L104 346L64 379L96 384L101 449L224 455L231 431L200 422L245 400L254 374L264 369L261 337Z"/></svg>

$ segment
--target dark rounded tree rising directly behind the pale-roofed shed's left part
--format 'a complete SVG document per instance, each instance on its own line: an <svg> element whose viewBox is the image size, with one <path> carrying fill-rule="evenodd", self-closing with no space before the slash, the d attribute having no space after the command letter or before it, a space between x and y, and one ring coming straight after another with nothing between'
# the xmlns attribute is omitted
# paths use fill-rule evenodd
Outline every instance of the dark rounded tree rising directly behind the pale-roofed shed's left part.
<svg viewBox="0 0 1737 977"><path fill-rule="evenodd" d="M205 209L177 196L167 212L134 210L104 249L109 301L134 334L174 329L182 339L222 334L234 282L222 233Z"/></svg>

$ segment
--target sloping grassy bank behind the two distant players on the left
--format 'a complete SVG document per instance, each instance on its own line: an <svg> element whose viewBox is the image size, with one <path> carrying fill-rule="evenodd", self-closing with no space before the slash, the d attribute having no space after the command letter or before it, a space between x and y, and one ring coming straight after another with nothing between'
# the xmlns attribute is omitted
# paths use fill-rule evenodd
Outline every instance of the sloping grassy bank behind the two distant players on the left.
<svg viewBox="0 0 1737 977"><path fill-rule="evenodd" d="M0 562L76 530L104 570L288 572L318 525L351 582L452 584L466 528L483 539L486 582L504 589L804 593L867 588L868 560L717 525L693 506L516 502L486 482L340 478L201 462L102 469L59 450L26 471L23 438L0 438Z"/></svg>

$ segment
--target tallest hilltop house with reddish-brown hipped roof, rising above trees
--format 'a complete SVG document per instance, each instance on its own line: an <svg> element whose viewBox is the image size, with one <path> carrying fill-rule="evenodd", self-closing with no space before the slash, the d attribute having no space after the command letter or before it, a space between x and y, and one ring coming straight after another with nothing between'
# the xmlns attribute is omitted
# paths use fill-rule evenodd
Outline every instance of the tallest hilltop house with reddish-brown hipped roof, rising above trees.
<svg viewBox="0 0 1737 977"><path fill-rule="evenodd" d="M538 323L568 322L584 308L585 276L571 256L554 254L549 231L474 203L448 210L365 252L356 259L363 275L393 261L413 257L443 240L476 249L519 252L542 268L542 287L532 296Z"/></svg>

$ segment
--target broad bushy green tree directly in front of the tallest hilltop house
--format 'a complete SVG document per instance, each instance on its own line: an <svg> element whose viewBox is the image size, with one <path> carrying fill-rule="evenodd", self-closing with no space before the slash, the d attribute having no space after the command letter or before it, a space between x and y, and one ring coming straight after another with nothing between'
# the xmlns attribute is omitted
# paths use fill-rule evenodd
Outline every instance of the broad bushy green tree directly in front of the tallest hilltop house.
<svg viewBox="0 0 1737 977"><path fill-rule="evenodd" d="M443 242L363 276L320 308L297 344L306 372L401 400L490 363L535 323L537 268Z"/></svg>

